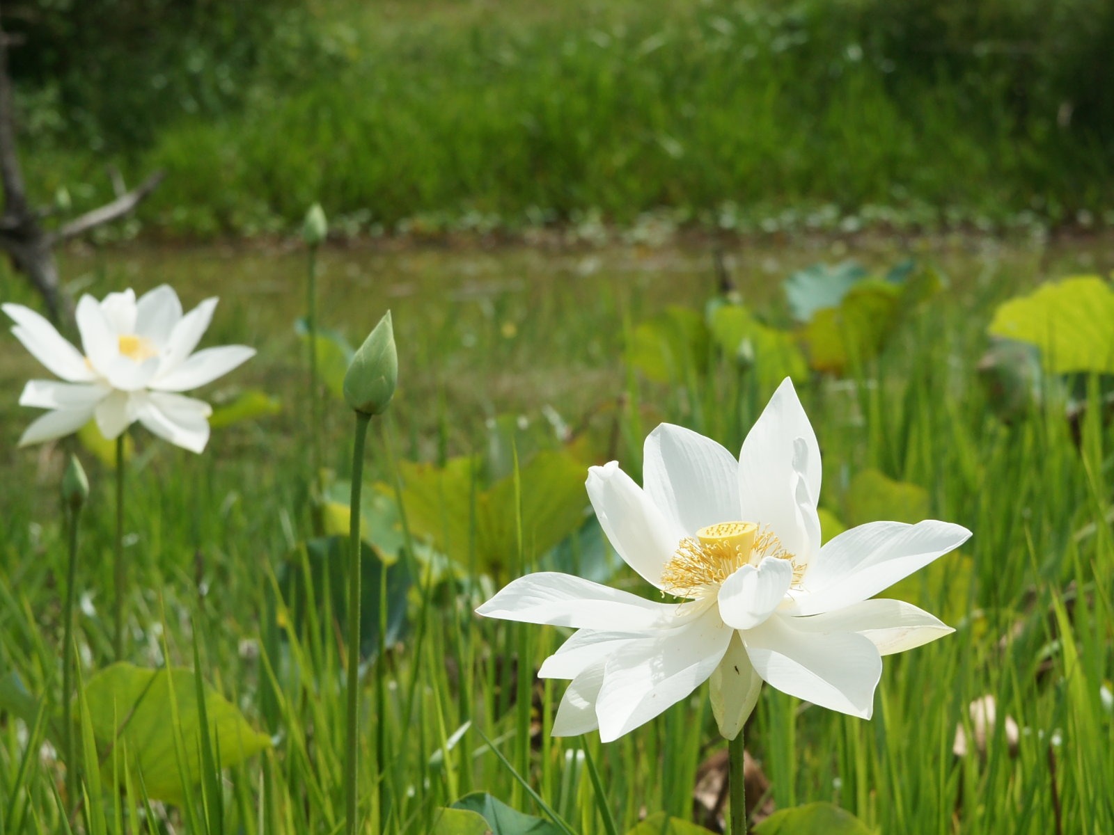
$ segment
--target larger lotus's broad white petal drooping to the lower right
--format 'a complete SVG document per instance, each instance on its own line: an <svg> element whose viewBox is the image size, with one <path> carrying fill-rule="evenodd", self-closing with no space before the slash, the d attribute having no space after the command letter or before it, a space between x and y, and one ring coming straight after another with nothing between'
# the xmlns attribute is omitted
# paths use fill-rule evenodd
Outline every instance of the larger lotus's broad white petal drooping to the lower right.
<svg viewBox="0 0 1114 835"><path fill-rule="evenodd" d="M882 675L878 648L856 632L799 629L797 620L774 613L743 632L754 669L782 692L869 719Z"/></svg>

